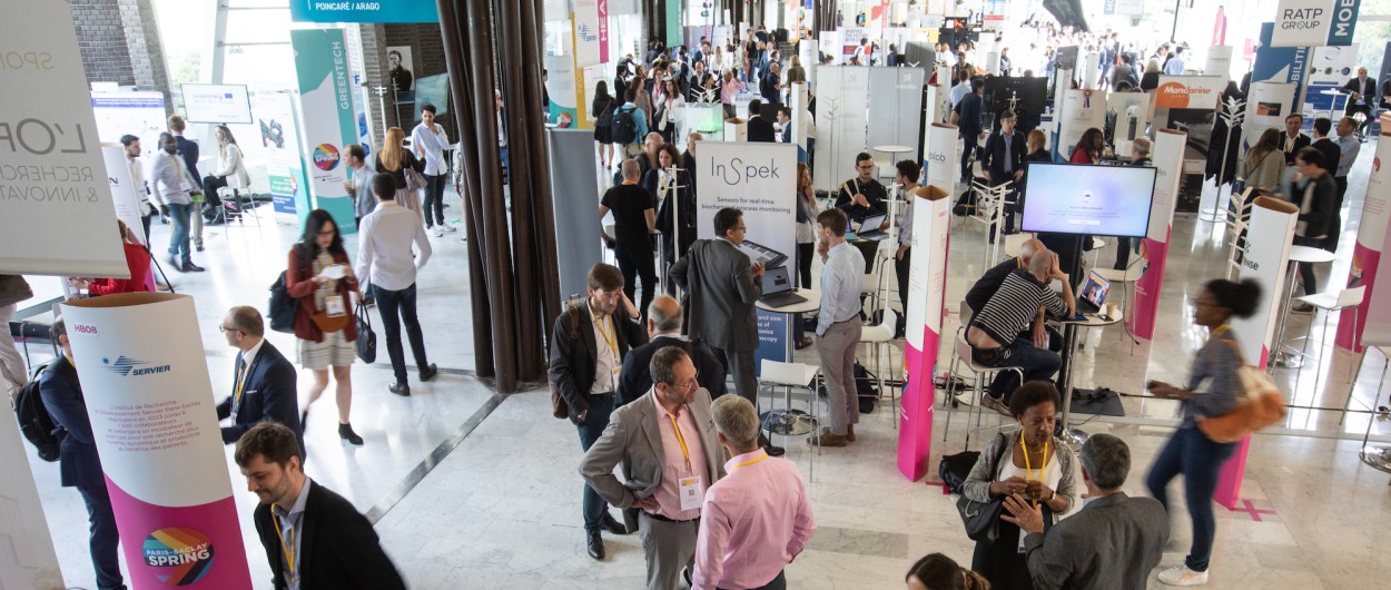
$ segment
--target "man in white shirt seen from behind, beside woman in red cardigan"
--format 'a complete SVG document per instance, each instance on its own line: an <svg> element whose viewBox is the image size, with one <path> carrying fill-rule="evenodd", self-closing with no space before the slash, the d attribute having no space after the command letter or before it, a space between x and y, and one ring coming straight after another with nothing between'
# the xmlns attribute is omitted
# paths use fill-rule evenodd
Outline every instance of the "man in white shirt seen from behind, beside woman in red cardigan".
<svg viewBox="0 0 1391 590"><path fill-rule="evenodd" d="M426 337L416 316L416 271L426 267L433 250L420 220L395 202L401 191L395 191L394 182L388 174L377 174L371 180L371 191L377 193L378 203L377 209L363 217L362 231L357 232L357 276L367 277L371 298L381 313L387 353L396 377L396 383L387 390L410 397L406 353L401 348L402 323L406 324L420 380L428 381L440 372L426 355Z"/></svg>

